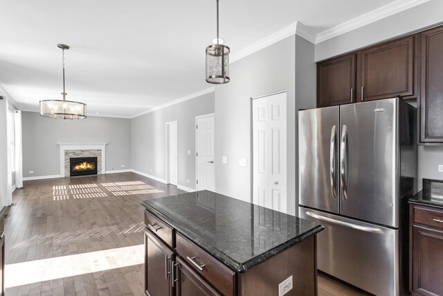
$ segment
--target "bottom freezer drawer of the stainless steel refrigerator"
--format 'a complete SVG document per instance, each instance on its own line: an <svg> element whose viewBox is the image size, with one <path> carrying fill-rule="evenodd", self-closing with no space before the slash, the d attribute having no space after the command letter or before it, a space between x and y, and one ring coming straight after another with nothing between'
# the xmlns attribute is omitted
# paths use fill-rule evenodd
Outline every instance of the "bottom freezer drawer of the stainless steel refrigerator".
<svg viewBox="0 0 443 296"><path fill-rule="evenodd" d="M398 229L299 208L325 227L317 234L317 268L374 295L401 295Z"/></svg>

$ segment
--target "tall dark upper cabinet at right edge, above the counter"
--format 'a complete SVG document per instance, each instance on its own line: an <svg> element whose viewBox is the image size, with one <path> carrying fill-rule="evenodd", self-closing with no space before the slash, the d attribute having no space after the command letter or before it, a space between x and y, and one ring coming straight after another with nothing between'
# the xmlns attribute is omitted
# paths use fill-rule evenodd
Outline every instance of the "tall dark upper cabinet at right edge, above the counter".
<svg viewBox="0 0 443 296"><path fill-rule="evenodd" d="M420 141L443 142L443 27L421 33Z"/></svg>

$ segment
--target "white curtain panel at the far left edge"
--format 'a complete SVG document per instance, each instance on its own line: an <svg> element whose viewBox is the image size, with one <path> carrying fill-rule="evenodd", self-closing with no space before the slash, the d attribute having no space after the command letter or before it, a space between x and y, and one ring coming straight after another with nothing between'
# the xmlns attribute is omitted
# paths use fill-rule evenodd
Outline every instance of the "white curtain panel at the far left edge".
<svg viewBox="0 0 443 296"><path fill-rule="evenodd" d="M0 100L0 210L6 206L6 196L8 194L7 111L8 101L3 98L3 100Z"/></svg>

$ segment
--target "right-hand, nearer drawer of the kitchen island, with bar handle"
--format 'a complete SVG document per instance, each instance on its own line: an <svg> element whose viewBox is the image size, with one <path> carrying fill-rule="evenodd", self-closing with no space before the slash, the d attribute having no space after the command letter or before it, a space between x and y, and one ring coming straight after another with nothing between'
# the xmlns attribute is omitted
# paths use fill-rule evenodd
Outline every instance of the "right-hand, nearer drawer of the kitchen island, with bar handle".
<svg viewBox="0 0 443 296"><path fill-rule="evenodd" d="M177 234L177 254L188 265L192 266L200 275L209 281L224 295L233 295L235 288L235 272L226 268L213 256L210 256L197 245Z"/></svg>

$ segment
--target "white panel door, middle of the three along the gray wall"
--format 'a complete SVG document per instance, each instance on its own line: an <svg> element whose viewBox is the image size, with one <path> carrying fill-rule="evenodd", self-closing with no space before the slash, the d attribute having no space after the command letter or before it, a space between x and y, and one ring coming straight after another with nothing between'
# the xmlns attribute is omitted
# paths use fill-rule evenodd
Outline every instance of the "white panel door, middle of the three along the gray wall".
<svg viewBox="0 0 443 296"><path fill-rule="evenodd" d="M214 191L214 116L197 116L197 190Z"/></svg>

